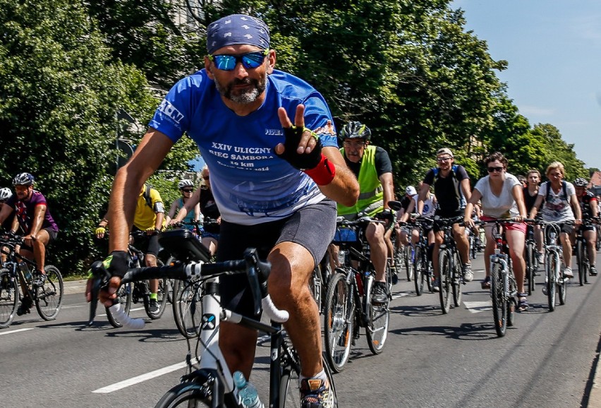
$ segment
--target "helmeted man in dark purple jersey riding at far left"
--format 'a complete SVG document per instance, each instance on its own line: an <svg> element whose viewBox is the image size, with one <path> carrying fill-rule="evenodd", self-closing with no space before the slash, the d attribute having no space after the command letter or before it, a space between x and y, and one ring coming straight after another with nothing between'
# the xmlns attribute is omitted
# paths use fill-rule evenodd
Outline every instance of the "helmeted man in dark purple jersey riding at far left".
<svg viewBox="0 0 601 408"><path fill-rule="evenodd" d="M46 262L46 247L56 239L59 227L54 222L46 198L33 189L34 178L29 173L19 173L13 179L15 195L6 200L6 205L0 210L0 224L15 212L11 232L18 229L23 232L23 245L19 253L28 259L34 259L37 271L33 274L34 286L42 286L46 280L44 265ZM17 310L19 316L29 313L31 299L23 300Z"/></svg>

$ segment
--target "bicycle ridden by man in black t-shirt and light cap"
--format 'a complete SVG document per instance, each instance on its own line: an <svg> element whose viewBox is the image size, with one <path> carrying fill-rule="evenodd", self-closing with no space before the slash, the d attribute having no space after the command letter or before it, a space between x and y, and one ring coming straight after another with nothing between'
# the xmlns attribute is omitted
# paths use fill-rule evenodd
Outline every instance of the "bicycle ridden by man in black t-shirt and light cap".
<svg viewBox="0 0 601 408"><path fill-rule="evenodd" d="M463 281L463 272L461 269L461 258L455 245L452 230L453 224L462 223L463 217L435 218L435 223L439 225L444 233L444 238L440 246L438 255L439 264L439 298L442 313L447 314L451 308L451 292L453 293L453 303L456 307L461 306L461 285L466 284Z"/></svg>

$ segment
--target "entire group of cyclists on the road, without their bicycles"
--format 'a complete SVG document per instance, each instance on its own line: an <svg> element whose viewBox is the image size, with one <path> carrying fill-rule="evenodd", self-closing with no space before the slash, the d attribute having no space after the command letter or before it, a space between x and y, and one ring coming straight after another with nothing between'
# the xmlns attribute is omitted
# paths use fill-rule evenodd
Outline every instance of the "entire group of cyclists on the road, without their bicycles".
<svg viewBox="0 0 601 408"><path fill-rule="evenodd" d="M488 175L471 190L466 169L456 164L449 148L440 148L435 157L437 167L427 171L418 188L404 189L403 210L395 217L389 208L395 196L388 153L370 143L370 128L358 121L345 124L336 133L324 97L305 81L274 67L276 52L269 49L269 40L267 25L251 16L227 16L207 27L205 68L169 91L133 157L115 176L109 210L96 229L102 238L110 226L110 255L105 265L112 277L109 287L99 294L104 304L110 306L116 298L128 269L131 229L142 233L138 234L143 241L140 248L147 254L147 266L153 266L159 255L158 233L168 225L189 227L201 215L217 220L217 226L200 236L217 260L241 258L246 248L255 247L272 264L269 292L274 304L290 313L285 326L301 360L302 407L316 408L332 407L333 397L322 367L320 317L308 281L334 239L337 216L348 220L372 217L365 239L376 273L374 303L385 302L389 296L385 272L387 260L394 258L396 251L393 234L399 245L411 246L419 239L417 230L407 224L415 216L456 220L452 232L461 274L463 282L471 282L466 227L475 227L474 208L481 212L480 220L511 220L505 225L506 240L518 282L520 310L528 309L523 256L526 218L533 219L540 211L543 220L561 223L564 275L573 277L571 234L583 217L598 214L597 198L586 191L585 180L564 181L563 165L553 162L547 167L549 181L539 186L540 174L533 170L523 186L507 172L504 155L494 152L485 160ZM198 188L188 179L178 183L181 198L165 215L159 192L146 181L184 133L198 144L207 166ZM10 229L21 229L25 236L21 251L30 251L39 268L37 280L43 280L44 248L56 239L58 227L33 184L31 174L23 173L13 179L14 195L6 188L0 190L0 200L5 203L0 222L16 212ZM590 273L596 275L596 229L585 228L588 243L593 243ZM443 233L434 222L424 234L434 270L432 289L437 291ZM485 236L487 270L482 289L490 287L492 227L485 226ZM535 236L542 253L540 229ZM157 286L158 282L151 284L151 308L158 307ZM221 289L224 307L246 316L253 313L245 277L224 276ZM30 307L21 306L23 310ZM256 330L228 322L221 325L219 344L231 371L250 376L256 340Z"/></svg>

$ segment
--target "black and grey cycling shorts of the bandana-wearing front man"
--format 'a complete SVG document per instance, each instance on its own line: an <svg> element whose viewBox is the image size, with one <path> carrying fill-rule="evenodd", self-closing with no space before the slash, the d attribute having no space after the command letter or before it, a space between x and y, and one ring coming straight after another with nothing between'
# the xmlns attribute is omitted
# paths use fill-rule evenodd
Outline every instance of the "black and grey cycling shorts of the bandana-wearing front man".
<svg viewBox="0 0 601 408"><path fill-rule="evenodd" d="M246 248L257 248L259 258L265 259L280 242L294 242L307 248L315 265L323 258L335 229L336 203L329 199L273 222L240 225L222 220L217 260L241 259ZM253 294L245 275L221 276L219 294L225 308L253 317Z"/></svg>

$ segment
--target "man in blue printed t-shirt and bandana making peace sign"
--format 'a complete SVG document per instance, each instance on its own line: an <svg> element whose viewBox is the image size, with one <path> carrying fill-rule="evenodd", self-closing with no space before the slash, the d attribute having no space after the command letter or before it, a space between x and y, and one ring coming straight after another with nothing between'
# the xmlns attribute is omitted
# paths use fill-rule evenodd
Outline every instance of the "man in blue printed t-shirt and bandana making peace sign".
<svg viewBox="0 0 601 408"><path fill-rule="evenodd" d="M127 232L140 188L186 133L211 169L221 212L217 260L240 259L257 248L272 264L269 294L289 311L285 323L301 360L301 406L331 407L322 368L322 338L309 277L334 238L338 200L353 205L359 188L327 124L332 115L315 88L275 69L269 28L252 16L232 15L207 27L205 68L168 92L111 192L110 304L127 268ZM293 117L293 123L291 122ZM245 275L220 277L221 304L253 316ZM254 317L254 316L253 316ZM257 331L224 322L219 347L230 371L245 378L255 360Z"/></svg>

